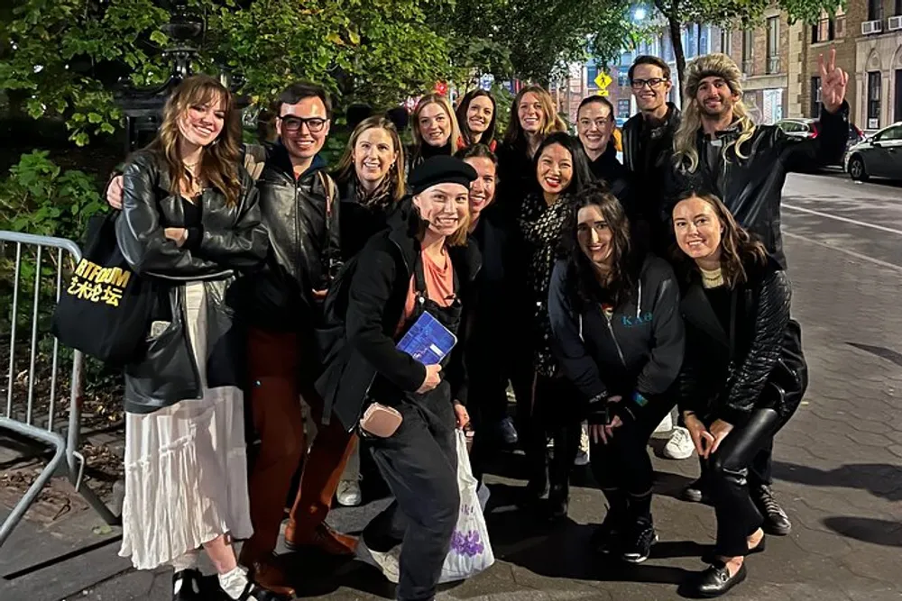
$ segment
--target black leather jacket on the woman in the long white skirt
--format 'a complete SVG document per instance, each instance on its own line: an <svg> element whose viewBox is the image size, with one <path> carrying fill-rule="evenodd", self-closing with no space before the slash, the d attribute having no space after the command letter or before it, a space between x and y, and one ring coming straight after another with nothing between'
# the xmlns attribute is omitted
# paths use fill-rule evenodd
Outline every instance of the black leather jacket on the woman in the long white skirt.
<svg viewBox="0 0 902 601"><path fill-rule="evenodd" d="M163 236L164 228L185 225L182 200L169 192L165 163L150 150L139 150L125 167L116 239L135 274L157 285L151 320L169 323L147 341L143 359L125 367L126 411L152 413L203 396L184 307L189 282L204 281L207 290L207 387L243 383L244 335L233 318L243 311L244 297L235 276L260 267L267 241L253 179L244 168L239 172L243 194L238 203L226 206L221 192L207 188L200 197L202 228L190 234L200 240L179 248Z"/></svg>

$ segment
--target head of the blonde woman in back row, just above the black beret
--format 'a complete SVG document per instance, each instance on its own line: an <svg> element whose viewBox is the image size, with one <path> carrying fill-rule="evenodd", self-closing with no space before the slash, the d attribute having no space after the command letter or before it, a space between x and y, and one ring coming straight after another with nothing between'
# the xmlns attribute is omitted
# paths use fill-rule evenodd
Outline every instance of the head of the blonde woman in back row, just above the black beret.
<svg viewBox="0 0 902 601"><path fill-rule="evenodd" d="M410 171L429 157L451 156L457 151L460 127L451 103L441 94L419 99L411 118L413 145L410 147Z"/></svg>

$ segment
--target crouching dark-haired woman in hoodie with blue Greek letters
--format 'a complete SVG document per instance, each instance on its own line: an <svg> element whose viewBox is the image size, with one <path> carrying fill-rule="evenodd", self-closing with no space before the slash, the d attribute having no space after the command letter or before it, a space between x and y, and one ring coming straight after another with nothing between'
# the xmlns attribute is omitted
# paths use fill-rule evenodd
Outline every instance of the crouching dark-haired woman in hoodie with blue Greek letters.
<svg viewBox="0 0 902 601"><path fill-rule="evenodd" d="M658 540L646 447L676 405L679 290L667 261L633 249L629 220L603 184L577 196L563 240L569 256L555 265L548 314L557 360L588 400L589 456L608 501L593 543L640 563Z"/></svg>

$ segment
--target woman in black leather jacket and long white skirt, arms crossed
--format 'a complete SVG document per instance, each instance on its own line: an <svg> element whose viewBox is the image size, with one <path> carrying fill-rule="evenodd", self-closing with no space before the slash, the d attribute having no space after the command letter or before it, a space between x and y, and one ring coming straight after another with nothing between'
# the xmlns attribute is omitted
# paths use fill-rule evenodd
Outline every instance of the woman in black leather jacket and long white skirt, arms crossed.
<svg viewBox="0 0 902 601"><path fill-rule="evenodd" d="M171 565L173 598L183 601L201 598L201 547L229 598L261 598L232 548L252 534L235 283L267 250L240 141L226 87L185 79L157 137L128 160L116 221L125 260L158 291L146 346L124 369L119 554L137 569Z"/></svg>

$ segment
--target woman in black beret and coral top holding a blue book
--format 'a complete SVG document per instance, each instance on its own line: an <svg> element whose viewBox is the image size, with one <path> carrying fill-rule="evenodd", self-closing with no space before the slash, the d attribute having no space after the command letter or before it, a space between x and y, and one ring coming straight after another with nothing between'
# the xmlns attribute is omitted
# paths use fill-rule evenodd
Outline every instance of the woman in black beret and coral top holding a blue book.
<svg viewBox="0 0 902 601"><path fill-rule="evenodd" d="M479 270L468 240L468 189L476 174L462 160L433 157L410 177L410 223L374 236L358 255L345 319L348 352L327 368L336 419L355 427L364 405L402 416L397 430L364 436L394 502L373 518L359 551L383 567L399 544L397 598L431 599L457 521L455 427L469 422L460 352L462 298ZM455 351L424 365L398 341L424 314L456 333ZM331 389L330 389L331 388Z"/></svg>

